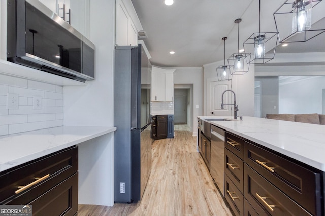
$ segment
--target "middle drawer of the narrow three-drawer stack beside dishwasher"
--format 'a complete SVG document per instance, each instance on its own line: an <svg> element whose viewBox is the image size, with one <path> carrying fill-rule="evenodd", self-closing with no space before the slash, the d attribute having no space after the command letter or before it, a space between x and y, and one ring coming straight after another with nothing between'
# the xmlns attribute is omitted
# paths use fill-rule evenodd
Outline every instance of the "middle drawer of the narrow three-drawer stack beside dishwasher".
<svg viewBox="0 0 325 216"><path fill-rule="evenodd" d="M224 149L224 172L244 194L244 161L228 149Z"/></svg>

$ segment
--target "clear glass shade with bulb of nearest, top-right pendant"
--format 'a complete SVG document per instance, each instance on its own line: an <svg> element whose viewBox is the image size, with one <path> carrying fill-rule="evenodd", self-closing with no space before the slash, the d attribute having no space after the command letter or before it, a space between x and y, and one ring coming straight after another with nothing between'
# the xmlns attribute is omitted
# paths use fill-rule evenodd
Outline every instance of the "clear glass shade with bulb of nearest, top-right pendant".
<svg viewBox="0 0 325 216"><path fill-rule="evenodd" d="M293 33L310 29L311 8L311 0L299 0L293 3Z"/></svg>

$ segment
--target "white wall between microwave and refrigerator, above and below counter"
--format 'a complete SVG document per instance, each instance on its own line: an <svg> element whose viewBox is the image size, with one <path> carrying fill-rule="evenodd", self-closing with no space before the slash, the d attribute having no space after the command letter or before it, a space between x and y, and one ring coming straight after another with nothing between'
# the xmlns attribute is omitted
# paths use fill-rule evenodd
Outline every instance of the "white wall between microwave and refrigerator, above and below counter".
<svg viewBox="0 0 325 216"><path fill-rule="evenodd" d="M91 2L89 15L89 39L95 44L95 80L86 86L64 87L64 125L113 126L115 1ZM79 166L80 204L113 206L113 144L110 135L79 145L80 164L94 165ZM90 154L88 148L101 148L103 152L94 149ZM88 191L95 194L88 196Z"/></svg>

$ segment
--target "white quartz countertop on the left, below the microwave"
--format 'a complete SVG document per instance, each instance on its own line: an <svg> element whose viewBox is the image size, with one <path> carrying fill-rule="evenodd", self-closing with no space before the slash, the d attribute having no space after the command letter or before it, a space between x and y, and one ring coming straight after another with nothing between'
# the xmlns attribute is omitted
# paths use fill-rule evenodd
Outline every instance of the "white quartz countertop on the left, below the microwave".
<svg viewBox="0 0 325 216"><path fill-rule="evenodd" d="M113 131L116 127L61 126L0 136L0 172Z"/></svg>

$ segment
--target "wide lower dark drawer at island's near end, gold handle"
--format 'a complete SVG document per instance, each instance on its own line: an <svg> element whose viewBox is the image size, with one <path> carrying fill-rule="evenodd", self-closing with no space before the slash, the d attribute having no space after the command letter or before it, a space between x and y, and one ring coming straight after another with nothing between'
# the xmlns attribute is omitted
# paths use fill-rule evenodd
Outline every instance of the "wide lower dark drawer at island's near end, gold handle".
<svg viewBox="0 0 325 216"><path fill-rule="evenodd" d="M311 215L246 164L244 181L244 196L254 208L260 206L270 215Z"/></svg>

